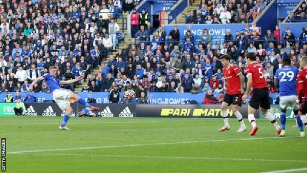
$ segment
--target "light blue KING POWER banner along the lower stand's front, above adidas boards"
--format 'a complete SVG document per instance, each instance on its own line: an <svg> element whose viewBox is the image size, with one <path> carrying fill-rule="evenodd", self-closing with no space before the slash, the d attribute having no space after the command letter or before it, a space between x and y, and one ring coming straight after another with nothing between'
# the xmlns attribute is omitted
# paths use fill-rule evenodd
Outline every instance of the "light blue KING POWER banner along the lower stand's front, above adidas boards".
<svg viewBox="0 0 307 173"><path fill-rule="evenodd" d="M25 98L28 93L20 93L20 95ZM52 94L48 93L30 93L31 95L35 96L37 102L43 102L44 100L52 100ZM97 103L108 103L108 92L97 92L97 93L78 93L79 96L87 101L87 98L95 98ZM0 101L4 101L5 96L7 93L0 94ZM15 93L12 93L12 96L15 96ZM218 93L214 93L215 97L218 97ZM123 97L123 93L120 93L120 98ZM147 93L148 100L150 104L185 104L186 100L196 100L198 104L203 102L205 97L204 93L200 94L174 94L174 93ZM272 97L273 102L277 98L277 94L270 94ZM134 102L136 102L134 100Z"/></svg>

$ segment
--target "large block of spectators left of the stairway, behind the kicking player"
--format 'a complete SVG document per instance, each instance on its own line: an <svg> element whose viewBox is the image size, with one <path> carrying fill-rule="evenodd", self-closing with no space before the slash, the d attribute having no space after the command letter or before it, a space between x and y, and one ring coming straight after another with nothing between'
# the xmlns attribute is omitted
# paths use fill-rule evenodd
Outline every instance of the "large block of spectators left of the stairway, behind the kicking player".
<svg viewBox="0 0 307 173"><path fill-rule="evenodd" d="M1 1L0 91L29 92L30 83L50 66L56 66L58 79L86 77L116 49L123 35L116 19L138 2ZM63 87L75 88L73 84ZM41 82L34 92L49 89Z"/></svg>

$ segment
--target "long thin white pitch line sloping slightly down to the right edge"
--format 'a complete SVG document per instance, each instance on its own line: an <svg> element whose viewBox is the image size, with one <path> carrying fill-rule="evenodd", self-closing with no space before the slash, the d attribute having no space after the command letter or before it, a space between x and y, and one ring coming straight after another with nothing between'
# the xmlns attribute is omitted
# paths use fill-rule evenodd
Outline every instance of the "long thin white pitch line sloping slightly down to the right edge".
<svg viewBox="0 0 307 173"><path fill-rule="evenodd" d="M135 155L92 155L92 154L65 154L65 153L43 153L43 155L61 156L98 156L118 158L149 158L149 159L191 159L191 160L235 160L235 161L260 161L260 162L304 162L307 160L279 160L279 159L249 159L249 158L214 158L214 157L185 157L185 156L135 156Z"/></svg>

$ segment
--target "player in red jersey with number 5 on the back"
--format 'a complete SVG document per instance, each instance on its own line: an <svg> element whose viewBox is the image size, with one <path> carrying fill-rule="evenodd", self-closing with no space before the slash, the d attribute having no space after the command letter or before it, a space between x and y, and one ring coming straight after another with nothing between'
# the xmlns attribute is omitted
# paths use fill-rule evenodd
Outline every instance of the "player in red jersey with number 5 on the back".
<svg viewBox="0 0 307 173"><path fill-rule="evenodd" d="M252 124L253 129L250 132L251 136L254 136L258 130L255 113L259 109L262 115L266 116L268 120L274 124L277 130L277 136L279 136L281 132L281 128L278 125L277 121L273 114L269 111L271 109L271 104L269 101L269 90L267 87L267 81L264 75L264 68L256 61L255 53L249 52L246 55L248 66L245 68L245 73L247 76L247 84L245 95L242 96L243 100L249 95L251 92L251 98L248 106L248 120Z"/></svg>

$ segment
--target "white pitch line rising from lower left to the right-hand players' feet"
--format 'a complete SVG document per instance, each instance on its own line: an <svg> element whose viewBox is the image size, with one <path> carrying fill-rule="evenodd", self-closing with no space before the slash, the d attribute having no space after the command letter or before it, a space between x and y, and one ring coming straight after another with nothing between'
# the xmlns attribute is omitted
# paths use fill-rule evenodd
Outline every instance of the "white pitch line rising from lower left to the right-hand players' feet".
<svg viewBox="0 0 307 173"><path fill-rule="evenodd" d="M163 143L145 143L145 144L128 144L128 145L109 145L109 146L94 146L94 147L79 147L79 148L59 148L59 149L40 149L40 150L24 150L17 152L7 152L8 154L25 154L25 153L40 153L40 152L55 152L67 150L82 150L82 149L98 149L98 148L121 148L134 146L154 146L154 145L173 145L173 144L189 144L189 143L206 143L206 142L226 142L226 141L246 141L246 140L260 140L260 139L285 139L296 137L267 137L267 138L241 138L241 139L220 139L207 141L182 141L182 142L163 142Z"/></svg>

